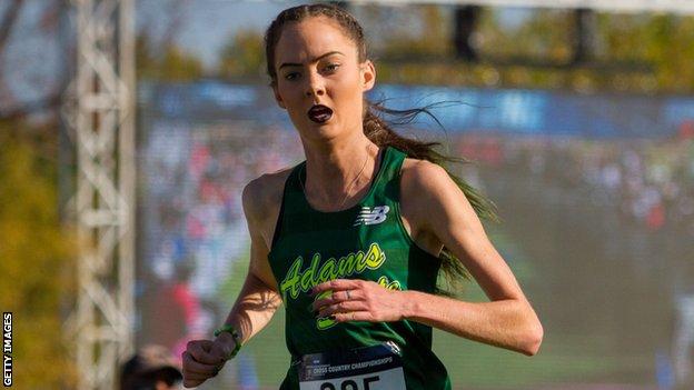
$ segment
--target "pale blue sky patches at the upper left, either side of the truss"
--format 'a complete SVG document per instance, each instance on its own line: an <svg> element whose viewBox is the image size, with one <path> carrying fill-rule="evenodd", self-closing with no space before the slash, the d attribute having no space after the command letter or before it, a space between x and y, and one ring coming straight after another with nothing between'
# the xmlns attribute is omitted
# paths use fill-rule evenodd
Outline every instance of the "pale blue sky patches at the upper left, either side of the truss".
<svg viewBox="0 0 694 390"><path fill-rule="evenodd" d="M0 17L9 1L0 0ZM186 51L202 59L206 67L214 67L217 51L239 29L262 31L271 19L285 8L299 1L222 1L222 0L136 0L136 26L163 33L175 18L179 28L175 32L177 43ZM0 83L0 104L16 106L2 97L12 96L19 102L40 100L59 81L65 71L65 56L60 50L60 37L47 34L38 27L38 20L49 4L47 0L26 0L19 19L0 57L0 70L4 72ZM172 7L179 4L179 7ZM177 10L172 14L171 9Z"/></svg>

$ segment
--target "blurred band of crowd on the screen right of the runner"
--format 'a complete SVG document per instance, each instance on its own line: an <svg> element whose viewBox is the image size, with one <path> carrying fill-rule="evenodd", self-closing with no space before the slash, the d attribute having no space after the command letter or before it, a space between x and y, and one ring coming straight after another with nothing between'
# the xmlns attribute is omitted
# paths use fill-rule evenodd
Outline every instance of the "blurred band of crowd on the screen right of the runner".
<svg viewBox="0 0 694 390"><path fill-rule="evenodd" d="M581 140L464 136L462 156L484 166L587 190L623 222L694 234L694 139Z"/></svg>

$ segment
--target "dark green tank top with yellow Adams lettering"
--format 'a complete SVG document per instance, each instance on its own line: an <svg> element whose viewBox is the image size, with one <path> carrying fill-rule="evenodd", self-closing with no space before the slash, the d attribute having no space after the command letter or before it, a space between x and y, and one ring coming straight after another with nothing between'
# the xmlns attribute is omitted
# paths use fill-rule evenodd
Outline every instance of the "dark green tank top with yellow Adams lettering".
<svg viewBox="0 0 694 390"><path fill-rule="evenodd" d="M406 232L399 210L405 153L393 147L368 193L353 208L315 210L296 166L285 183L268 254L286 310L291 361L280 389L450 389L432 351L432 328L414 321L336 323L317 319L310 289L333 279L371 280L388 289L434 292L440 260Z"/></svg>

